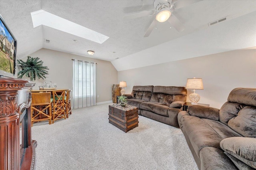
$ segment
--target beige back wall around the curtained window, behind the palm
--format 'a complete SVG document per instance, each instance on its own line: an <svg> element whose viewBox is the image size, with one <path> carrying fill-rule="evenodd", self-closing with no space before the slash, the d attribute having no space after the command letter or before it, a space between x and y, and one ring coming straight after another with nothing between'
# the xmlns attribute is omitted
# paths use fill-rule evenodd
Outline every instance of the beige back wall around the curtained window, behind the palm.
<svg viewBox="0 0 256 170"><path fill-rule="evenodd" d="M36 86L33 89L39 89L43 82L56 82L57 88L72 89L72 67L71 59L96 62L96 103L112 100L112 84L117 84L117 70L109 61L93 59L80 55L63 53L59 51L40 49L29 55L30 57L39 57L44 62L43 66L48 66L48 75L46 79L38 79L36 76ZM26 57L22 59L26 61ZM23 77L27 80L29 78Z"/></svg>

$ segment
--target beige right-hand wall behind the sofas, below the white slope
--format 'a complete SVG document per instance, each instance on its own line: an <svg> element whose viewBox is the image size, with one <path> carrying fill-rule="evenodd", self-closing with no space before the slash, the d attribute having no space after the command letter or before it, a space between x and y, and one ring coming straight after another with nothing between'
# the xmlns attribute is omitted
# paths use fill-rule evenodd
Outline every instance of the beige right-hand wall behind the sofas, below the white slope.
<svg viewBox="0 0 256 170"><path fill-rule="evenodd" d="M204 83L204 90L196 90L199 103L220 108L232 89L256 87L256 47L118 72L118 81L127 83L126 94L134 85L186 86L187 78L193 77Z"/></svg>

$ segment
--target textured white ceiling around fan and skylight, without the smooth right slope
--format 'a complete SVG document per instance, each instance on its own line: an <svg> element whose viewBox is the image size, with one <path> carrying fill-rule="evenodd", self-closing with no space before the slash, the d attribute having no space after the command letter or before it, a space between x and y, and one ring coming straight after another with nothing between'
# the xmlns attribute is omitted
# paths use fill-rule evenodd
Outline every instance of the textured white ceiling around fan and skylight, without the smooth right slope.
<svg viewBox="0 0 256 170"><path fill-rule="evenodd" d="M209 31L211 29L208 27L209 22L226 16L228 20L224 23L236 18L242 20L241 16L251 13L255 15L256 11L255 0L202 0L174 11L173 14L185 25L184 31L179 33L176 29L170 29L171 25L168 22L158 22L157 29L154 29L149 37L144 38L144 33L155 16L133 20L123 20L123 17L142 10L152 10L153 4L154 0L0 0L0 14L18 41L18 58L46 48L112 61L116 66L121 63L120 61L128 61L129 57L131 61L136 61L134 56L144 55L141 52L151 47L183 42L176 40L182 37L188 38L186 46L180 43L175 44L175 48L194 45L196 40L192 38L195 36L189 35L196 33L196 36L203 38L205 35L200 34L200 31ZM110 38L99 44L43 25L33 28L30 12L37 10L50 12ZM219 25L224 25L224 23ZM214 30L220 27L219 25L216 25ZM243 31L246 32L246 30ZM44 39L49 39L50 43L44 43ZM73 39L78 41L74 42ZM87 50L93 50L95 54L89 56L86 53ZM161 50L161 47L157 50ZM196 54L193 56L197 57ZM120 59L115 60L116 58ZM157 59L150 60L156 61ZM161 62L165 62L165 59ZM131 67L127 66L126 69L128 68ZM122 68L117 68L117 70L122 70Z"/></svg>

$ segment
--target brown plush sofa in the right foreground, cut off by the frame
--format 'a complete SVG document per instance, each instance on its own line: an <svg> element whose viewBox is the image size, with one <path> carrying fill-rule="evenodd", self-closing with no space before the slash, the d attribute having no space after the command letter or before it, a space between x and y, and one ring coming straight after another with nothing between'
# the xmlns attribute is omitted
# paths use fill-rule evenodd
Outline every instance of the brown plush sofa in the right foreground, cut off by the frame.
<svg viewBox="0 0 256 170"><path fill-rule="evenodd" d="M178 122L200 170L256 168L256 88L235 88L220 110L188 106Z"/></svg>

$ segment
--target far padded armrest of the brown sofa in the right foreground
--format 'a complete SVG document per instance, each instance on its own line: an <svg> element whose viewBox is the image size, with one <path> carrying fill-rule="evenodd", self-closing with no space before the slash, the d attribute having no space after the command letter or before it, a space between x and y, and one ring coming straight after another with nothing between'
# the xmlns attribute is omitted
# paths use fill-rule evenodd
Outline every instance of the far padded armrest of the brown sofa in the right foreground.
<svg viewBox="0 0 256 170"><path fill-rule="evenodd" d="M199 118L219 120L219 111L214 107L200 106L200 105L190 105L188 106L188 113L192 116Z"/></svg>

